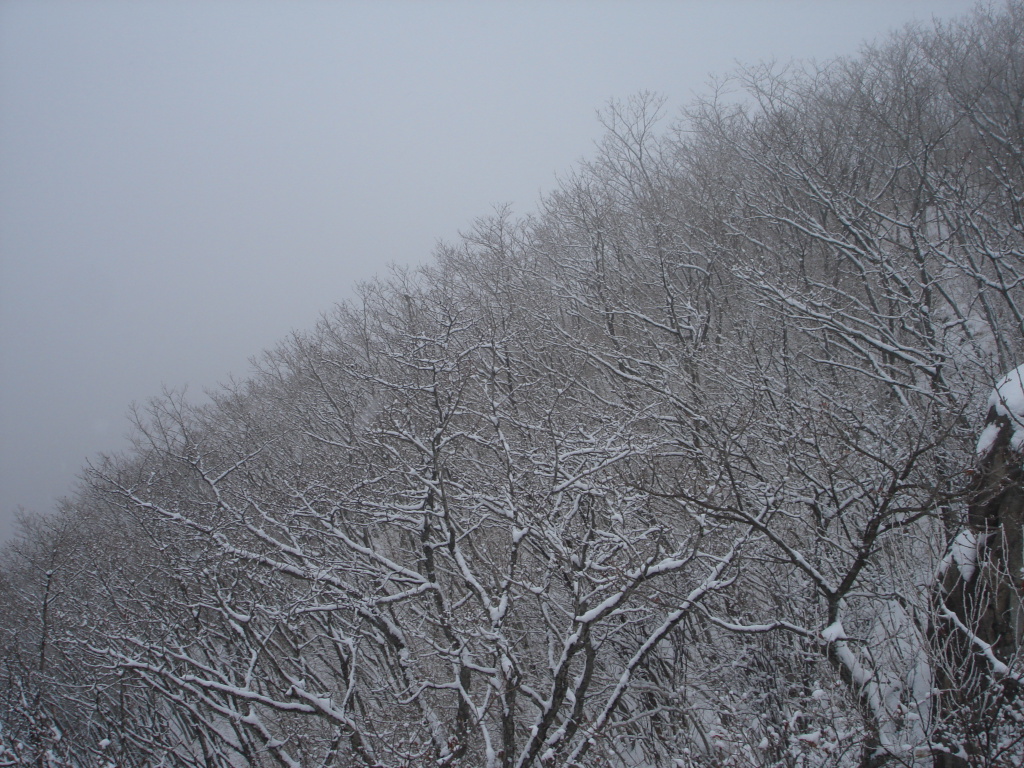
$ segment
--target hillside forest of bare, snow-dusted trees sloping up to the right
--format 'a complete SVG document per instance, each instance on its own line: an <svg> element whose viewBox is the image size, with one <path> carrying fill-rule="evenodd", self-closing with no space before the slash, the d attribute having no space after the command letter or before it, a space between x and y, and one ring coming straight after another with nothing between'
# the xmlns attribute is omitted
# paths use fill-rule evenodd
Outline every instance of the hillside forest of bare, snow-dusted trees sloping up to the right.
<svg viewBox="0 0 1024 768"><path fill-rule="evenodd" d="M26 521L0 766L1024 762L1024 3L602 122Z"/></svg>

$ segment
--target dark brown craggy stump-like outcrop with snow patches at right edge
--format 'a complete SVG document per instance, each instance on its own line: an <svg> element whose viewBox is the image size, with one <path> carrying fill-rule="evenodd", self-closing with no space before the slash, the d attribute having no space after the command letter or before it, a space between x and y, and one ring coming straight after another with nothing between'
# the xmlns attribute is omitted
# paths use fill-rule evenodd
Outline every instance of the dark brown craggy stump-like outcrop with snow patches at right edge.
<svg viewBox="0 0 1024 768"><path fill-rule="evenodd" d="M995 765L999 733L1013 727L1020 683L1011 670L1024 638L1024 471L1015 414L993 406L968 505L934 597L935 768ZM1019 728L1019 725L1017 726ZM948 752L946 752L948 750Z"/></svg>

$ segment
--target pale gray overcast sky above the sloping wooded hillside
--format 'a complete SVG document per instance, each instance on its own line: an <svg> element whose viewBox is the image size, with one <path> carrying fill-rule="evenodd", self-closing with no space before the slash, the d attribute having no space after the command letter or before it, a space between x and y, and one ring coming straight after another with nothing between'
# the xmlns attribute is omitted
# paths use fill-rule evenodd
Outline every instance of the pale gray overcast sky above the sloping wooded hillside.
<svg viewBox="0 0 1024 768"><path fill-rule="evenodd" d="M195 392L736 62L967 0L0 0L0 540Z"/></svg>

